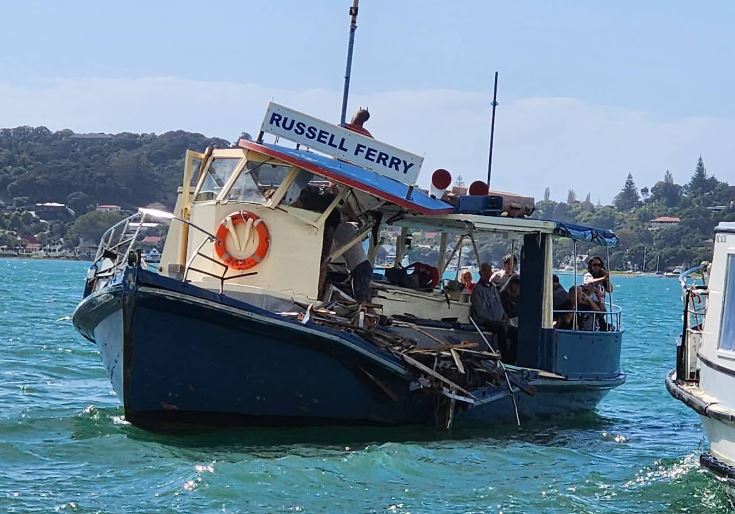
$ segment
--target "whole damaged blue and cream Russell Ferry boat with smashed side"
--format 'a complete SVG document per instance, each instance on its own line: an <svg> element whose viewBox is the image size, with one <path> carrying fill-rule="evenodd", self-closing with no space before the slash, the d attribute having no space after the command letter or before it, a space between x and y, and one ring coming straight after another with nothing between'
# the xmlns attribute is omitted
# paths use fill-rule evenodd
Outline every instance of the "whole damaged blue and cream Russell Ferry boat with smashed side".
<svg viewBox="0 0 735 514"><path fill-rule="evenodd" d="M556 328L552 252L559 237L613 246L615 234L509 217L487 186L447 203L445 170L434 194L415 187L421 164L274 103L257 141L188 151L174 212L140 209L105 233L73 316L125 418L449 427L594 409L625 380L621 312L610 295L594 314L605 331ZM170 220L155 267L137 249L152 218ZM354 235L337 241L345 221ZM395 263L409 229L440 234L438 262L422 263L421 280L400 280L410 277L400 264L373 274L370 299L357 301L340 261L366 242L374 262L385 227L401 231ZM467 295L439 280L451 247L470 241L479 264L490 236L520 256L513 356L473 319Z"/></svg>

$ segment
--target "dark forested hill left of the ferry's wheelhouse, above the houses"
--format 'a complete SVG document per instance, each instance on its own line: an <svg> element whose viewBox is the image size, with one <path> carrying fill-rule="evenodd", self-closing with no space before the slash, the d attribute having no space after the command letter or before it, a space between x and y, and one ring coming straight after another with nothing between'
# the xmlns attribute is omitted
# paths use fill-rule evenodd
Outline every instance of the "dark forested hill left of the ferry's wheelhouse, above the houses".
<svg viewBox="0 0 735 514"><path fill-rule="evenodd" d="M123 207L161 202L172 208L184 153L208 145L229 142L182 130L156 135L0 129L0 199Z"/></svg>

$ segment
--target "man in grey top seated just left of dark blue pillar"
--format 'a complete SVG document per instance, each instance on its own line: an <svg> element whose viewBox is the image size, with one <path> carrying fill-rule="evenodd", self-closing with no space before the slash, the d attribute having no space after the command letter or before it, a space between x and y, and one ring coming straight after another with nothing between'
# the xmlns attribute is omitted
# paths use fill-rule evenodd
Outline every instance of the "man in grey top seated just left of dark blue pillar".
<svg viewBox="0 0 735 514"><path fill-rule="evenodd" d="M518 346L518 329L508 322L503 309L500 292L490 282L492 266L484 262L480 266L480 280L475 285L470 299L470 316L478 326L493 332L498 338L498 346L503 361L513 363L516 360Z"/></svg>

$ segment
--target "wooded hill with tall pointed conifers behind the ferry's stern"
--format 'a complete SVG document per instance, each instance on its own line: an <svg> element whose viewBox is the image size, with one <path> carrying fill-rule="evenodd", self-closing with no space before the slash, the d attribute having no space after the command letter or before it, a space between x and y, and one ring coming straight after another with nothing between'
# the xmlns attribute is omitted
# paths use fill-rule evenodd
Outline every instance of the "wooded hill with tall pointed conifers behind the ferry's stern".
<svg viewBox="0 0 735 514"><path fill-rule="evenodd" d="M580 201L574 190L566 202L555 202L547 189L534 217L615 230L620 243L610 250L610 268L642 271L654 271L657 264L664 271L710 260L715 225L735 221L735 186L709 173L701 156L683 184L668 170L661 180L640 189L631 174L621 184L612 205L593 205L589 194ZM651 224L660 217L669 218L668 226ZM604 257L599 247L580 244L578 249ZM557 262L563 261L571 254L571 243L561 243L555 251Z"/></svg>

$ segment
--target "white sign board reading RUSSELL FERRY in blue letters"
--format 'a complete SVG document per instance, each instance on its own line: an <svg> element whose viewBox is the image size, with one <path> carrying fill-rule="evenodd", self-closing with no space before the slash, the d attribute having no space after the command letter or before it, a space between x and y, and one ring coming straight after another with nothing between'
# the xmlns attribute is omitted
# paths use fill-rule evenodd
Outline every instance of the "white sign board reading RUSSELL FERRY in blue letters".
<svg viewBox="0 0 735 514"><path fill-rule="evenodd" d="M260 130L408 185L416 183L424 161L418 155L273 102Z"/></svg>

